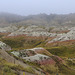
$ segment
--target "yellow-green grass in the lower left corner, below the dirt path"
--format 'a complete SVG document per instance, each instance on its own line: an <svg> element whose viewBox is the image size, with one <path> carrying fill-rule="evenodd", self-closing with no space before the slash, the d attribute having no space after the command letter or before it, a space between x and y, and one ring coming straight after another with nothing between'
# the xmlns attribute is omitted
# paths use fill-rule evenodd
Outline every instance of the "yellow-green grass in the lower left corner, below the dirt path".
<svg viewBox="0 0 75 75"><path fill-rule="evenodd" d="M14 72L15 71L15 72ZM16 65L12 63L8 63L4 59L0 58L0 75L17 75L18 71L24 71L28 73L35 73L32 67L22 67L21 65Z"/></svg>

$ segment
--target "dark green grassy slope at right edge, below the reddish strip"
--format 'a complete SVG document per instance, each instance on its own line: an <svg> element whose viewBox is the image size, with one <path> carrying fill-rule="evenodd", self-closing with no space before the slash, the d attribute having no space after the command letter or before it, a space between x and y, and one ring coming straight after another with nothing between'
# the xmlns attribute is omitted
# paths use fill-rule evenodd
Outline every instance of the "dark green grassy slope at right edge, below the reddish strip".
<svg viewBox="0 0 75 75"><path fill-rule="evenodd" d="M60 46L60 47L48 47L46 48L50 53L61 56L74 58L75 57L75 45L70 46Z"/></svg>

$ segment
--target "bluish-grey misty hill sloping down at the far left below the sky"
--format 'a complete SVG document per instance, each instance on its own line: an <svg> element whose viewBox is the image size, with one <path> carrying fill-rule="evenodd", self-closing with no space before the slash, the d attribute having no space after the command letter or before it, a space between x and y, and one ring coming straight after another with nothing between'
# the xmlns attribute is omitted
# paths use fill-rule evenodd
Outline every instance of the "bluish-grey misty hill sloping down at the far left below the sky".
<svg viewBox="0 0 75 75"><path fill-rule="evenodd" d="M24 19L23 16L10 14L10 13L0 13L0 26L8 26L11 23L20 22Z"/></svg>

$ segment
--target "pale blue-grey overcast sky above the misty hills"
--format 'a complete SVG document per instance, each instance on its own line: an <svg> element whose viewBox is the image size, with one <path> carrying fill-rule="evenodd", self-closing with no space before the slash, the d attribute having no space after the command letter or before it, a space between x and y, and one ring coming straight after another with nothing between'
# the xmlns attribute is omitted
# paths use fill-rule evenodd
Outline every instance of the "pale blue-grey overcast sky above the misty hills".
<svg viewBox="0 0 75 75"><path fill-rule="evenodd" d="M75 13L75 0L0 0L0 12L19 15Z"/></svg>

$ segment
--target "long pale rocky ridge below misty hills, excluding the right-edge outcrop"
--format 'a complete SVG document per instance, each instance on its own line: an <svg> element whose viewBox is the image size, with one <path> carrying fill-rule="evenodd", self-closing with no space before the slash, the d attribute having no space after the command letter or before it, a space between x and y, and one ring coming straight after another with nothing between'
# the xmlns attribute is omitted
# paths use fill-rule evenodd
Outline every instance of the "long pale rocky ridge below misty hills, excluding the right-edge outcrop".
<svg viewBox="0 0 75 75"><path fill-rule="evenodd" d="M62 27L63 28L63 27ZM67 28L67 31L69 29ZM54 31L54 32L53 32ZM58 32L66 33L65 29L59 28ZM64 32L63 32L64 31ZM49 32L49 28L45 27L40 27L40 26L27 26L27 27L16 27L16 26L9 26L9 27L4 27L0 28L1 33L8 33L10 34L8 36L17 36L17 35L27 35L27 36L48 36L48 37L55 37L58 35L62 35L62 33L57 33L57 28L51 29L51 32Z"/></svg>

